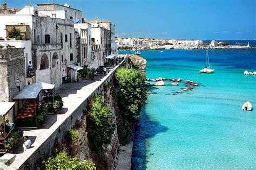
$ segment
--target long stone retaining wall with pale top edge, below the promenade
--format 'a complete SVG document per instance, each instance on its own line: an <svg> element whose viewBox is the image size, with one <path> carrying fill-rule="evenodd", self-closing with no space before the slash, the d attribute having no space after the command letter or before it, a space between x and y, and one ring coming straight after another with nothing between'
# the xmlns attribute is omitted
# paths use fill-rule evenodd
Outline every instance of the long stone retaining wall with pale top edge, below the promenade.
<svg viewBox="0 0 256 170"><path fill-rule="evenodd" d="M122 62L122 66L132 68L131 60L126 58L125 61ZM116 123L117 111L115 109L117 109L117 107L114 105L116 102L113 101L114 72L116 72L116 70L113 70L112 73L100 80L100 84L93 87L90 95L84 96L84 101L80 103L78 107L66 112L67 115L63 121L57 122L51 126L49 137L42 141L42 144L36 148L35 152L29 155L27 160L23 160L24 162L18 167L19 169L26 169L27 167L29 167L29 169L35 169L36 164L38 164L39 161L43 160L46 155L51 154L52 148L55 147L56 143L62 143L66 132L71 129L76 129L79 134L78 142L72 146L73 157L78 157L80 160L92 160L93 155L90 154L89 141L86 132L86 116L84 115L83 110L87 108L87 104L95 94L101 94L104 96L105 104L111 108L112 120ZM109 166L110 169L113 169L119 147L117 129L111 137L110 144L103 145L103 147L104 160L107 162L107 166Z"/></svg>

